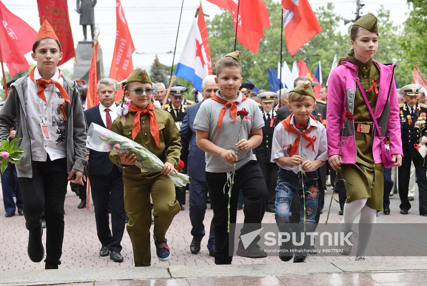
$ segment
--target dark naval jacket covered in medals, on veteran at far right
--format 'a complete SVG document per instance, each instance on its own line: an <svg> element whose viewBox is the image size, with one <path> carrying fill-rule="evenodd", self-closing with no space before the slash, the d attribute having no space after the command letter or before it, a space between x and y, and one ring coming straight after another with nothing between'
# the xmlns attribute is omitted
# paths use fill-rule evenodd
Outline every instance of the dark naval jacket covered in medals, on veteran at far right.
<svg viewBox="0 0 427 286"><path fill-rule="evenodd" d="M399 104L400 107L400 117L401 117L401 123L402 123L402 151L404 156L409 156L411 159L415 158L422 158L421 154L417 152L417 150L414 147L414 144L420 144L418 143L419 139L422 136L427 136L427 128L424 128L421 125L422 130L422 136L420 134L420 129L415 127L415 123L418 120L418 116L421 116L421 113L427 114L427 105L423 103L418 103L414 106L414 109L419 108L420 111L414 111L414 115L411 117L412 123L409 125L408 115L410 116L410 111L408 108L408 105L406 102ZM423 116L425 116L423 114ZM421 119L420 119L421 120ZM425 118L423 119L426 120ZM425 127L424 122L424 127Z"/></svg>

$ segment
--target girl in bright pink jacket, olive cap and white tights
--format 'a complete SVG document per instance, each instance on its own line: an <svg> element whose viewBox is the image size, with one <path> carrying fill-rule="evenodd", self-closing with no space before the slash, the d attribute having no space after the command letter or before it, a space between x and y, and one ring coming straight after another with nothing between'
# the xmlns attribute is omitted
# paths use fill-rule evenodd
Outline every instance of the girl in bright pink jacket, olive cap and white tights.
<svg viewBox="0 0 427 286"><path fill-rule="evenodd" d="M329 164L341 169L346 184L347 200L344 219L339 232L353 233L353 223L360 213L358 245L355 260L367 260L377 211L383 210L383 169L380 139L373 124L368 105L358 87L365 91L369 105L377 119L382 136L390 141L390 152L395 166L402 161L402 141L399 122L399 105L393 76L394 64L380 64L372 58L378 48L377 18L367 14L351 28L352 49L347 57L338 60L329 78L327 138ZM344 111L350 111L354 120L345 122ZM362 225L363 224L363 225ZM344 244L341 254L349 255L351 245Z"/></svg>

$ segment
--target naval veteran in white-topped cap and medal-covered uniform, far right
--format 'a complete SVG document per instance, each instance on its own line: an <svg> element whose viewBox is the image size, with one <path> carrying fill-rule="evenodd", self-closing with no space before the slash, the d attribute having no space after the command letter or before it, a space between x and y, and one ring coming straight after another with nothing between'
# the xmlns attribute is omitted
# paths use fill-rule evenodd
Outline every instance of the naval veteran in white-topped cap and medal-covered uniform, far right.
<svg viewBox="0 0 427 286"><path fill-rule="evenodd" d="M426 114L427 105L417 102L421 85L405 85L400 89L406 102L399 104L402 123L402 166L398 167L399 196L401 214L408 214L411 204L408 200L409 175L411 162L414 163L419 192L419 211L427 216L427 166L418 149L427 143Z"/></svg>

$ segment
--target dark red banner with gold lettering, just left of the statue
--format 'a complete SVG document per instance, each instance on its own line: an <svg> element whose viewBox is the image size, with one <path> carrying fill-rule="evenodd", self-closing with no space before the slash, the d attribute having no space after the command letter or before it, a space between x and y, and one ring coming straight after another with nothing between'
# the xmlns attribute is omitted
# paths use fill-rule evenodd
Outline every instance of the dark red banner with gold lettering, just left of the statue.
<svg viewBox="0 0 427 286"><path fill-rule="evenodd" d="M61 43L63 55L61 61L58 62L58 66L60 66L76 56L70 19L68 18L67 0L37 0L37 5L40 25L46 19L55 31L59 43Z"/></svg>

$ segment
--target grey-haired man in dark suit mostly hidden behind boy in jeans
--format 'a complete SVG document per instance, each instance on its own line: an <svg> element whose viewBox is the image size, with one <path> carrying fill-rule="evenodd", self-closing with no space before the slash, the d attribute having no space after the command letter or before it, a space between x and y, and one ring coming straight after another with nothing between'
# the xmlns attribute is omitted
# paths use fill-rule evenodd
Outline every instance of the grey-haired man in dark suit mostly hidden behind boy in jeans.
<svg viewBox="0 0 427 286"><path fill-rule="evenodd" d="M311 79L309 79L307 76L300 76L295 79L294 88L297 85L301 84L302 82L310 82L310 84L313 83ZM278 108L277 115L276 115L276 125L279 124L286 117L288 117L290 114L291 114L291 111L289 111L289 108L287 106L282 106L281 108ZM323 124L326 126L326 102L325 101L321 99L316 99L316 108L313 111L313 116L316 118L317 121L322 121ZM325 201L326 164L323 164L323 166L319 167L317 169L317 172L319 175L319 180L317 181L318 188L319 188L319 204L317 205L316 224L319 223L320 211L322 210L323 204ZM290 206L290 211L292 212L292 215L289 219L290 223L298 224L301 216L298 196L294 196L292 200L292 204Z"/></svg>

